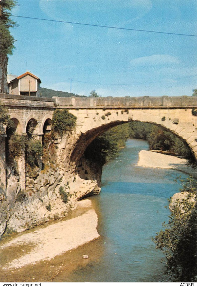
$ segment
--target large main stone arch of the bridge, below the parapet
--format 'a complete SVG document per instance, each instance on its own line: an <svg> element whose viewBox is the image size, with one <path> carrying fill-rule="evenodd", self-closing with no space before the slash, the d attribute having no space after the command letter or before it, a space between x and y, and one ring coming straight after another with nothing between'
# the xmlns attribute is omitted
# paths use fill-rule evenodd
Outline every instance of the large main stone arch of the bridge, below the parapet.
<svg viewBox="0 0 197 287"><path fill-rule="evenodd" d="M108 112L109 110L109 112ZM96 110L94 110L95 113ZM107 113L106 113L107 112ZM189 146L194 158L197 159L197 123L192 116L190 109L106 109L97 110L95 117L92 112L88 112L88 126L83 127L81 134L76 141L70 160L76 162L80 160L86 147L99 135L117 125L128 123L129 121L140 121L162 126L167 131L178 136ZM109 114L104 118L106 114ZM189 121L188 121L189 119Z"/></svg>

